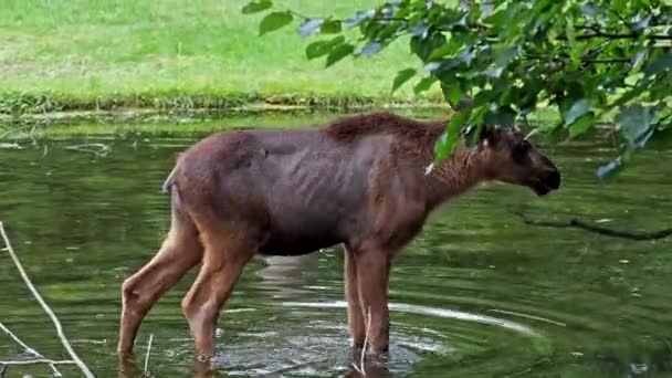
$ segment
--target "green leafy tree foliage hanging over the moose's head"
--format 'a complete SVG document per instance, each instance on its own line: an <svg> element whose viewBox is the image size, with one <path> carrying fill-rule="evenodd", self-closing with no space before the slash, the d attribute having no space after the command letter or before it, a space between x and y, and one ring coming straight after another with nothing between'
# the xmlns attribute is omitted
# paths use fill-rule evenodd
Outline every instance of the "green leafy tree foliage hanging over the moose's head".
<svg viewBox="0 0 672 378"><path fill-rule="evenodd" d="M244 9L270 12L262 33L296 22L301 35L317 38L306 57L325 57L326 66L408 40L424 71L414 92L439 84L461 107L437 146L439 159L461 136L473 143L484 125L522 124L558 141L607 122L620 156L598 170L606 177L672 130L672 6L664 1L395 0L344 20L273 7L263 0ZM400 67L392 91L420 71ZM528 124L545 106L559 122Z"/></svg>

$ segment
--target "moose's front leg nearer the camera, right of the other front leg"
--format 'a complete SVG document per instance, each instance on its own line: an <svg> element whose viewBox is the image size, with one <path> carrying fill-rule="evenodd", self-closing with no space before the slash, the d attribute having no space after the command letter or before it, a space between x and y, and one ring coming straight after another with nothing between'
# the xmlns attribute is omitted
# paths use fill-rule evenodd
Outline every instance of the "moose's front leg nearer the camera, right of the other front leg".
<svg viewBox="0 0 672 378"><path fill-rule="evenodd" d="M388 280L391 254L380 248L365 248L357 255L357 283L365 316L365 334L374 354L389 347ZM370 318L369 318L370 317ZM366 347L366 346L365 346Z"/></svg>

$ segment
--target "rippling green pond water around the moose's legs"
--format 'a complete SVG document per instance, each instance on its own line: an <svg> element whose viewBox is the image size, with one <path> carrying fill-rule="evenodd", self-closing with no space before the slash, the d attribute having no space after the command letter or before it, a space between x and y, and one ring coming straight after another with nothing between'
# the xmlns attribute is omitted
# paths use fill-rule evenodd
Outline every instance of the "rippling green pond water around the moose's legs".
<svg viewBox="0 0 672 378"><path fill-rule="evenodd" d="M101 126L109 134L90 135L72 127L77 134L21 139L21 149L0 149L0 220L73 347L98 377L123 376L115 355L119 286L153 256L167 231L169 203L160 185L176 154L223 124L288 126L333 117L115 124ZM67 148L81 144L109 150L96 156ZM672 238L630 241L533 227L513 213L580 217L626 230L668 228L672 147L638 155L608 185L595 177L596 167L613 155L607 145L589 140L546 150L563 171L560 191L536 198L518 187L479 188L438 210L400 254L390 282L390 374L672 377ZM198 375L180 311L195 273L143 324L138 371L153 335L151 376ZM355 376L342 274L339 248L255 259L220 316L214 376ZM7 328L49 358L67 357L4 252L0 293ZM22 351L0 333L0 359ZM80 376L74 367L60 369L65 377ZM6 377L24 374L44 377L51 370L11 367Z"/></svg>

